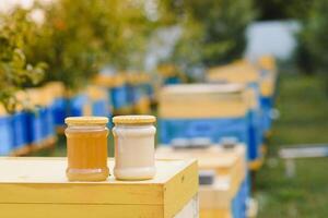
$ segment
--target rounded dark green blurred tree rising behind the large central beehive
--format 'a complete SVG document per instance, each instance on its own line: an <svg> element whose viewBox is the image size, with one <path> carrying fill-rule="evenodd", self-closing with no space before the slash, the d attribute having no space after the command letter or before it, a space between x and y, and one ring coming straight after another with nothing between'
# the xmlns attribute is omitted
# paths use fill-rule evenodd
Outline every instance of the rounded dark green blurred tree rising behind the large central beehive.
<svg viewBox="0 0 328 218"><path fill-rule="evenodd" d="M255 16L251 0L184 0L164 5L177 13L183 27L173 60L211 66L243 55L244 33Z"/></svg>

